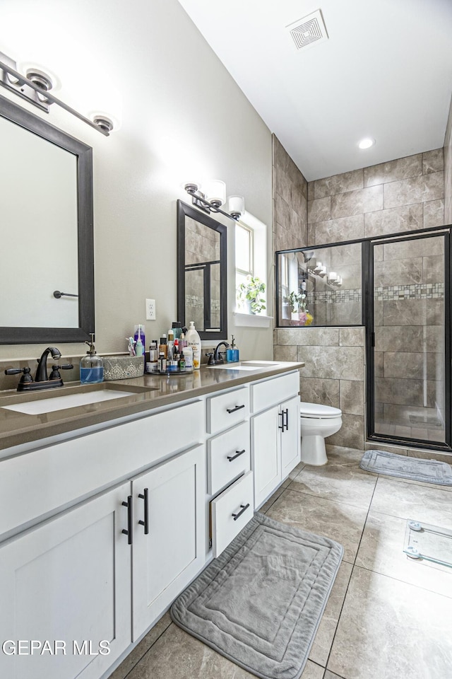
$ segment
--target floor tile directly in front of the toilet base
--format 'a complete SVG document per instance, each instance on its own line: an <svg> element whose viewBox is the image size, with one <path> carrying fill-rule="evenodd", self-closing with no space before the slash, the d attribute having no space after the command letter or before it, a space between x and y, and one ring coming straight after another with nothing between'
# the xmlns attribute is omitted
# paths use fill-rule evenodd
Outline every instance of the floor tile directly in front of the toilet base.
<svg viewBox="0 0 452 679"><path fill-rule="evenodd" d="M359 459L361 459L360 455ZM369 509L376 476L363 472L355 461L340 463L334 457L324 467L307 465L290 484L290 490L346 502Z"/></svg>

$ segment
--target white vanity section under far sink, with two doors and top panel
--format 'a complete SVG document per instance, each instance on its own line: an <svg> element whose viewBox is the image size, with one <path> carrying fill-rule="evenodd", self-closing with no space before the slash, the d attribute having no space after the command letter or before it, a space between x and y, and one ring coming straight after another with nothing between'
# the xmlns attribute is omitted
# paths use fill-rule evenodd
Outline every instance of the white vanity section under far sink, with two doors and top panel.
<svg viewBox="0 0 452 679"><path fill-rule="evenodd" d="M251 384L251 454L258 509L300 460L299 373Z"/></svg>

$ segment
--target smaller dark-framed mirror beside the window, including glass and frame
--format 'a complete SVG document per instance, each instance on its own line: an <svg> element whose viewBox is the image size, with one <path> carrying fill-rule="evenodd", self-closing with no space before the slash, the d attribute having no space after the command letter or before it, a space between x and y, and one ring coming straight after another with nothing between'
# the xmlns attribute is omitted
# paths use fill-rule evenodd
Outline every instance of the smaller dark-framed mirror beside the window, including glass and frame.
<svg viewBox="0 0 452 679"><path fill-rule="evenodd" d="M177 318L201 340L227 338L226 253L226 227L178 200Z"/></svg>

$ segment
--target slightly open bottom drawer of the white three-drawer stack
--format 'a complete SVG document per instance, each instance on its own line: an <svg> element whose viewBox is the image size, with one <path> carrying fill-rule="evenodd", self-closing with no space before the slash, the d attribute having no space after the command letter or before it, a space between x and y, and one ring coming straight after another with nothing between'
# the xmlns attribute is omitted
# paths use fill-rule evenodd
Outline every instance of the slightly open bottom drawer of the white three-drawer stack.
<svg viewBox="0 0 452 679"><path fill-rule="evenodd" d="M210 502L213 556L218 557L254 512L253 473L246 472Z"/></svg>

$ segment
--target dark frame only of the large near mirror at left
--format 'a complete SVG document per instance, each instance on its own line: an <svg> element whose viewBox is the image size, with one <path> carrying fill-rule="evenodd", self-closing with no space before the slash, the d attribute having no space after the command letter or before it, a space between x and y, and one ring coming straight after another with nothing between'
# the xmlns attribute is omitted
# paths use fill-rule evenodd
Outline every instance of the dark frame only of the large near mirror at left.
<svg viewBox="0 0 452 679"><path fill-rule="evenodd" d="M84 342L94 332L93 149L0 97L0 115L77 156L78 327L0 326L0 344ZM18 262L20 275L20 262ZM13 288L13 282L12 282ZM4 291L5 293L5 291ZM13 289L11 291L13 294Z"/></svg>

